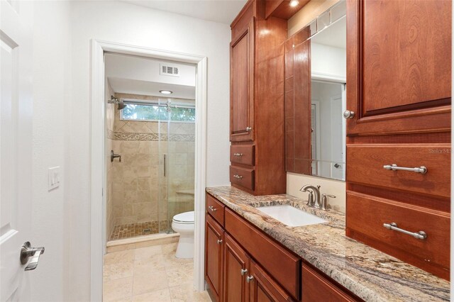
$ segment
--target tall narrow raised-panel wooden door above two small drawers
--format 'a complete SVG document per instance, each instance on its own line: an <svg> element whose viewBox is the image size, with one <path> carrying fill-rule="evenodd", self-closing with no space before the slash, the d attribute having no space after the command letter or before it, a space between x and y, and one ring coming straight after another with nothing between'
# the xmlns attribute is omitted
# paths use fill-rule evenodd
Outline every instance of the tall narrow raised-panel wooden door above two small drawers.
<svg viewBox="0 0 454 302"><path fill-rule="evenodd" d="M254 18L231 42L231 141L254 139Z"/></svg>

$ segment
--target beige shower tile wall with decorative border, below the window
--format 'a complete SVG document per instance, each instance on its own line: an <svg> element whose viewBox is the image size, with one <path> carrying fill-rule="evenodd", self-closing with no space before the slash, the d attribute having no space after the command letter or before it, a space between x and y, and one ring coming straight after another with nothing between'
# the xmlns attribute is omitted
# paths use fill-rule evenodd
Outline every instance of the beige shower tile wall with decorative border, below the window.
<svg viewBox="0 0 454 302"><path fill-rule="evenodd" d="M111 170L115 225L160 220L163 229L167 216L171 220L176 213L194 210L194 133L194 123L121 121L115 110L112 146L121 154L121 162L114 160Z"/></svg>

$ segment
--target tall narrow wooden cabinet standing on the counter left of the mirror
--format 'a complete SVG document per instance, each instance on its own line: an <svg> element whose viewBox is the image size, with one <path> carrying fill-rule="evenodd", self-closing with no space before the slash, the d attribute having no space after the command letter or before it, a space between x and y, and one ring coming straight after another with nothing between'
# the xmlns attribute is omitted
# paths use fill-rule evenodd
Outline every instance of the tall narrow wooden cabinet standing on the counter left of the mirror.
<svg viewBox="0 0 454 302"><path fill-rule="evenodd" d="M232 186L254 195L286 191L287 20L266 17L265 6L265 0L248 1L231 24L230 179Z"/></svg>

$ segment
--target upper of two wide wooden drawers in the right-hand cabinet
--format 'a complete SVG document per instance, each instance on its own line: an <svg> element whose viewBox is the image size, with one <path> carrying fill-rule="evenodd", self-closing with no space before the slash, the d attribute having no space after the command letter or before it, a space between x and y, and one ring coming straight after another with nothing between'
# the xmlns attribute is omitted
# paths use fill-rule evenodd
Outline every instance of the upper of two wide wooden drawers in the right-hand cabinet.
<svg viewBox="0 0 454 302"><path fill-rule="evenodd" d="M347 181L450 197L450 144L347 145ZM384 165L427 168L426 174Z"/></svg>

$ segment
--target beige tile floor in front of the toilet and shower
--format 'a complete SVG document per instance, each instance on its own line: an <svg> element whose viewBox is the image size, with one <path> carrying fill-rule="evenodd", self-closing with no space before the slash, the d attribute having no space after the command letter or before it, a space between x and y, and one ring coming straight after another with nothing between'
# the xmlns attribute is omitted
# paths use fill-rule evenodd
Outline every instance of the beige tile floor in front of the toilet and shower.
<svg viewBox="0 0 454 302"><path fill-rule="evenodd" d="M211 302L193 289L192 259L177 259L177 243L104 256L103 301Z"/></svg>

